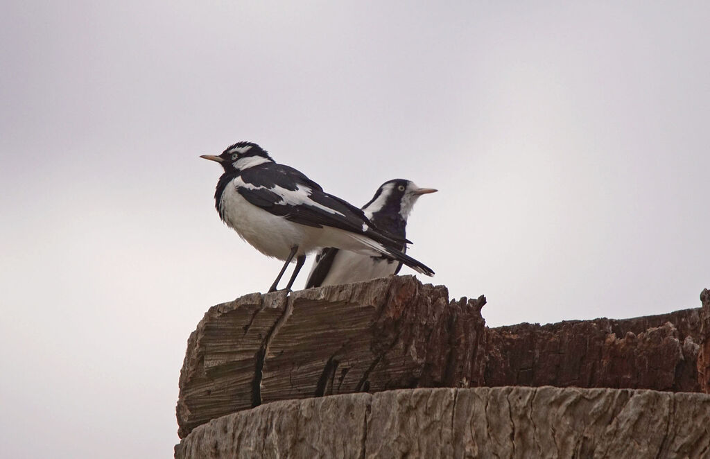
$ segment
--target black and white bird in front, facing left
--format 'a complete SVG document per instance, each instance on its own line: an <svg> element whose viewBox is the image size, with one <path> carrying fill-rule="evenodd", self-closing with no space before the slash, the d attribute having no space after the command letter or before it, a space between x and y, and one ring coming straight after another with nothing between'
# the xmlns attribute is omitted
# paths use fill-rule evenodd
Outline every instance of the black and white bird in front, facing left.
<svg viewBox="0 0 710 459"><path fill-rule="evenodd" d="M259 252L285 261L269 291L276 290L295 257L286 286L290 290L306 254L320 247L383 254L427 276L434 274L400 251L406 239L381 231L362 210L325 193L294 168L275 163L257 144L238 142L219 156L200 158L217 161L224 168L214 192L222 221Z"/></svg>

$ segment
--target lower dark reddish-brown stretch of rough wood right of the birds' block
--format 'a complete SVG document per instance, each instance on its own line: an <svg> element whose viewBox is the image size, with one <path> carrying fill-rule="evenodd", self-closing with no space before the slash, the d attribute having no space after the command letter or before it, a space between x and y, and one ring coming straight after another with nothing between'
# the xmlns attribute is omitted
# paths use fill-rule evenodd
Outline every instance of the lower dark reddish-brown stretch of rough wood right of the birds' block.
<svg viewBox="0 0 710 459"><path fill-rule="evenodd" d="M698 309L486 330L486 386L697 392Z"/></svg>

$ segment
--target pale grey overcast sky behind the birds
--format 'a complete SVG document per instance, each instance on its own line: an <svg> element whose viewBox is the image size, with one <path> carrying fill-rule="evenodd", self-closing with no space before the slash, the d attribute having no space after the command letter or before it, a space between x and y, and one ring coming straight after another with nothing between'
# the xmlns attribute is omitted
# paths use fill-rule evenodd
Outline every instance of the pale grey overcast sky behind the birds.
<svg viewBox="0 0 710 459"><path fill-rule="evenodd" d="M4 457L172 455L187 337L281 265L214 210L240 140L438 188L408 253L489 325L699 306L706 2L235 3L4 2Z"/></svg>

